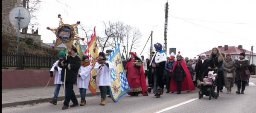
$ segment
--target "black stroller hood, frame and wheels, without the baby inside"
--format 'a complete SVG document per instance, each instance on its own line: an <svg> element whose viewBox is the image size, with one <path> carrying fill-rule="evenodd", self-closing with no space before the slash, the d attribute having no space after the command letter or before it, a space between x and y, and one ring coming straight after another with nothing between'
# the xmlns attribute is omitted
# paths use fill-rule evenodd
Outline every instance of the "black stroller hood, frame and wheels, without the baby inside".
<svg viewBox="0 0 256 113"><path fill-rule="evenodd" d="M215 77L215 81L212 80L212 78L208 78L208 72L209 71L214 71L214 73L217 74L217 76ZM215 99L218 99L218 93L217 91L215 91L215 86L216 86L216 80L218 78L218 72L215 71L214 69L207 69L203 74L202 74L202 79L201 81L203 81L204 78L208 78L208 79L211 79L213 82L212 82L212 85L201 85L199 87L200 91L199 91L199 99L203 98L204 95L205 96L209 96L209 100L211 100L211 98L215 98Z"/></svg>

